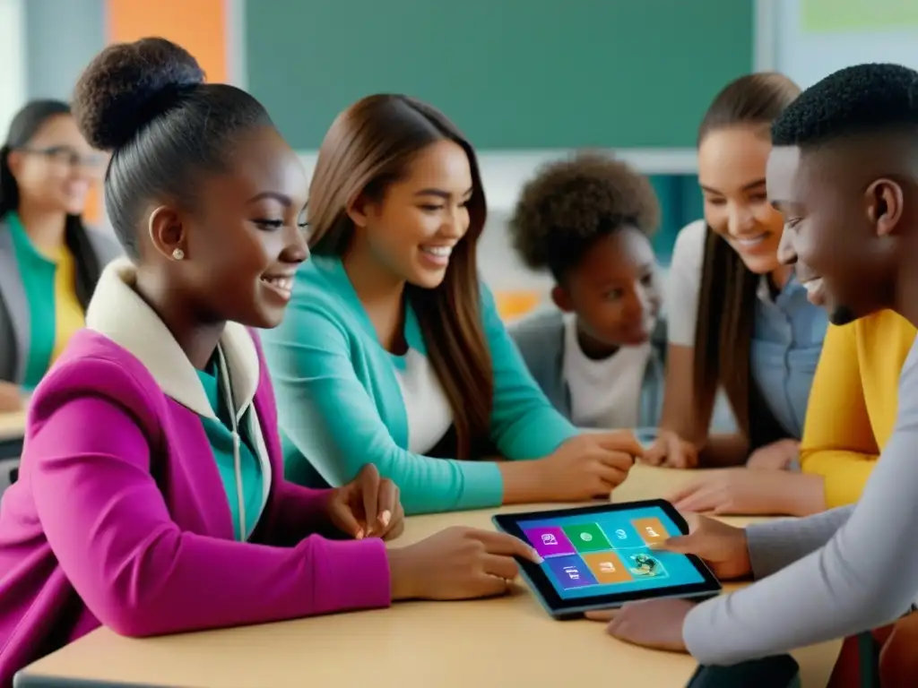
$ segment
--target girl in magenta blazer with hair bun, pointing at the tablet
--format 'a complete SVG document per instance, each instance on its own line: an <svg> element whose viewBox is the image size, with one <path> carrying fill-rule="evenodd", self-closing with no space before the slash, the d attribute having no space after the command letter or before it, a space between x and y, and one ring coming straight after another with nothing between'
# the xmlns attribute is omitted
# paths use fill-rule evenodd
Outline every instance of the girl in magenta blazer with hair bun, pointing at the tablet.
<svg viewBox="0 0 918 688"><path fill-rule="evenodd" d="M402 512L372 467L335 490L285 483L248 327L280 322L308 257L307 181L262 105L203 76L143 39L77 85L130 260L32 399L0 507L0 686L102 624L148 636L499 594L513 555L537 559L466 528L386 549Z"/></svg>

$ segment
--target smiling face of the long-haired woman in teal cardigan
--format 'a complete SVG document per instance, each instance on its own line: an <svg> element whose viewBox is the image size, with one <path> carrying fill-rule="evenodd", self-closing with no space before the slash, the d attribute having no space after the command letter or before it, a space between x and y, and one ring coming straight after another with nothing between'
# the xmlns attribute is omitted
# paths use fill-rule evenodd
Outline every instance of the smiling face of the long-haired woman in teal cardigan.
<svg viewBox="0 0 918 688"><path fill-rule="evenodd" d="M431 143L381 197L359 198L349 208L356 228L349 252L370 257L399 282L437 287L469 228L474 192L465 150L452 140Z"/></svg>

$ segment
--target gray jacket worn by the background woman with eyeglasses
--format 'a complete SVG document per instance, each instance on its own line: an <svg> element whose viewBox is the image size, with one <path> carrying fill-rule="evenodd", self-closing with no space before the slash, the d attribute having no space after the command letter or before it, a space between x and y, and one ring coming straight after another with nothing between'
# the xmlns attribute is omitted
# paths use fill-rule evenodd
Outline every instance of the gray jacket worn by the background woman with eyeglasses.
<svg viewBox="0 0 918 688"><path fill-rule="evenodd" d="M86 230L86 236L100 268L121 255L115 239L90 229ZM82 256L74 255L73 258L79 262ZM0 380L22 383L28 358L23 352L30 347L28 317L28 301L13 239L6 222L0 220Z"/></svg>

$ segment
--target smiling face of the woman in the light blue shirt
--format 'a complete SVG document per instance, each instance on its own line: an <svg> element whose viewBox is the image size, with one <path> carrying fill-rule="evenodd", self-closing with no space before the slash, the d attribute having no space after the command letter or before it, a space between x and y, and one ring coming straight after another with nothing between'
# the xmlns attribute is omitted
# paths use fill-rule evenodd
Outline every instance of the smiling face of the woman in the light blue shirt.
<svg viewBox="0 0 918 688"><path fill-rule="evenodd" d="M704 219L757 274L779 267L782 221L765 188L770 150L767 128L737 126L712 130L698 151Z"/></svg>

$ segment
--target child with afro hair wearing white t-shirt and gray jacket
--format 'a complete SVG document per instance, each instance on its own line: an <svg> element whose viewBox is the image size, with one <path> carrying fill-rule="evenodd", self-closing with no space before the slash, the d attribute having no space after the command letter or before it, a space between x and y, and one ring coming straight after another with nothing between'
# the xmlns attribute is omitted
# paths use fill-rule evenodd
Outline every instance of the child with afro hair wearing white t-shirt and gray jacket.
<svg viewBox="0 0 918 688"><path fill-rule="evenodd" d="M544 166L510 220L521 260L554 276L557 309L510 327L532 376L579 427L655 427L666 333L650 236L654 187L628 164L579 153Z"/></svg>

